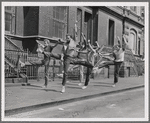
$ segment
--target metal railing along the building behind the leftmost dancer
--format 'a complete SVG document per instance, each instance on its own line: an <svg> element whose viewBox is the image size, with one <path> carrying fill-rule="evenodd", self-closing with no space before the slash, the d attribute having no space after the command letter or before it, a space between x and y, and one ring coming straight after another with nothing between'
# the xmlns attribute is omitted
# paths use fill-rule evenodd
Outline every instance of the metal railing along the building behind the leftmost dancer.
<svg viewBox="0 0 150 123"><path fill-rule="evenodd" d="M30 53L27 51L16 51L5 49L5 78L17 77L17 61L18 57L22 63L25 63L25 67L20 67L20 73L24 73L27 75L28 79L39 79L44 78L44 66L37 66L32 64L34 61L41 59L38 57L38 54ZM56 74L59 72L59 65L54 63L54 60L51 60L49 75L50 78L56 77Z"/></svg>

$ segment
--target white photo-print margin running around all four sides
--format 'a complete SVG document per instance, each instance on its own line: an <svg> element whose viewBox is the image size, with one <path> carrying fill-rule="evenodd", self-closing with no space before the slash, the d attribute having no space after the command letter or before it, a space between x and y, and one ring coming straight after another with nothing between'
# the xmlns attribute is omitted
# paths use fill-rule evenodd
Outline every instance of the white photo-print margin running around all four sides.
<svg viewBox="0 0 150 123"><path fill-rule="evenodd" d="M5 109L5 84L4 84L4 47L5 47L5 40L4 40L4 6L145 6L145 118L5 118L4 119L4 109ZM149 4L148 2L2 2L2 37L1 37L1 94L2 94L2 107L1 107L1 117L2 121L148 121L149 120L149 106L146 101L149 101ZM42 37L42 36L41 36Z"/></svg>

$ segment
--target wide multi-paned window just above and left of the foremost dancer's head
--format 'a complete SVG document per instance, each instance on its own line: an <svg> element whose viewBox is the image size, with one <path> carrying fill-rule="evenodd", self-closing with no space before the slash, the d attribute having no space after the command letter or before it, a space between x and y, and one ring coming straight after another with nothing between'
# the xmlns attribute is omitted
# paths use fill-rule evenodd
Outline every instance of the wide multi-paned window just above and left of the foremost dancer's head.
<svg viewBox="0 0 150 123"><path fill-rule="evenodd" d="M67 29L67 7L53 7L53 36L65 39Z"/></svg>

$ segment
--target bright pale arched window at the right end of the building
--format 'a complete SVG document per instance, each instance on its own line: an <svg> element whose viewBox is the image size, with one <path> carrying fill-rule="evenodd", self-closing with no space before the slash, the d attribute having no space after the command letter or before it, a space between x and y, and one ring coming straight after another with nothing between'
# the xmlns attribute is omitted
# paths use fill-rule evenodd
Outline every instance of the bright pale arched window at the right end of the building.
<svg viewBox="0 0 150 123"><path fill-rule="evenodd" d="M134 29L130 30L129 48L134 54L138 52L137 33Z"/></svg>

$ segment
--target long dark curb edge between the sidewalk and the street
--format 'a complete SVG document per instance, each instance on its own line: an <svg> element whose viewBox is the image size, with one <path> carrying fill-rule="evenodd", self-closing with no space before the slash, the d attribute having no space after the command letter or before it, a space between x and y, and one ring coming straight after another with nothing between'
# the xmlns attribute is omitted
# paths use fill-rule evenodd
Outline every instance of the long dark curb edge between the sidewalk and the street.
<svg viewBox="0 0 150 123"><path fill-rule="evenodd" d="M86 99L91 99L91 98L96 98L96 97L101 97L101 96L107 96L107 95L115 94L118 92L121 93L121 92L139 89L139 88L143 88L143 87L144 87L144 85L139 85L139 86L129 87L129 88L121 89L121 90L109 91L109 92L98 93L98 94L93 94L93 95L88 95L88 96L83 96L83 97L64 99L64 100L60 100L60 101L54 101L54 102L37 104L37 105L31 105L31 106L27 106L27 107L20 107L20 108L16 108L16 109L5 110L5 116L10 116L10 115L18 114L18 113L28 112L28 111L42 109L42 108L46 108L46 107L58 106L58 105L62 105L62 104L67 104L67 103L71 103L71 102L76 102L76 101L81 101L81 100L86 100Z"/></svg>

